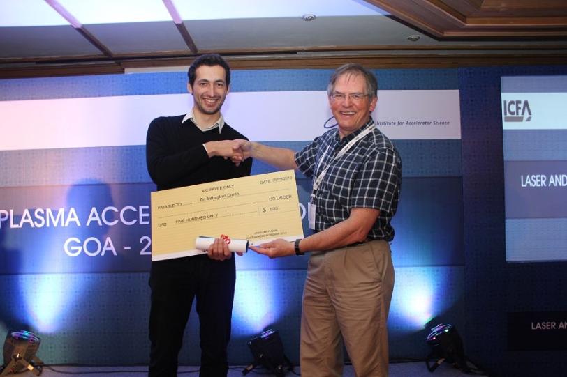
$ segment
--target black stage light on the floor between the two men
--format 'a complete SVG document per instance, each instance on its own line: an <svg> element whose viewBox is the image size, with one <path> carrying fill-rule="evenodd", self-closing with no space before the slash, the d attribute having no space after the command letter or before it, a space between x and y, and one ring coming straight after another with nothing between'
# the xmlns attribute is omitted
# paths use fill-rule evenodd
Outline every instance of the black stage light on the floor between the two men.
<svg viewBox="0 0 567 377"><path fill-rule="evenodd" d="M277 330L266 330L248 342L254 361L244 368L242 374L262 365L274 376L283 377L286 371L293 371L293 364L283 352L283 343Z"/></svg>

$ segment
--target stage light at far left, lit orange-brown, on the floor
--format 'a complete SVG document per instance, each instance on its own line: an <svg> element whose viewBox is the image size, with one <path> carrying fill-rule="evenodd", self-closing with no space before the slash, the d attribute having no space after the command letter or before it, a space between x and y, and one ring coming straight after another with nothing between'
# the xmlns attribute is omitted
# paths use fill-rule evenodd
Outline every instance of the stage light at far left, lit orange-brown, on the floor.
<svg viewBox="0 0 567 377"><path fill-rule="evenodd" d="M29 331L8 332L4 341L4 364L0 377L26 370L39 376L43 368L43 361L36 356L40 343L41 339Z"/></svg>

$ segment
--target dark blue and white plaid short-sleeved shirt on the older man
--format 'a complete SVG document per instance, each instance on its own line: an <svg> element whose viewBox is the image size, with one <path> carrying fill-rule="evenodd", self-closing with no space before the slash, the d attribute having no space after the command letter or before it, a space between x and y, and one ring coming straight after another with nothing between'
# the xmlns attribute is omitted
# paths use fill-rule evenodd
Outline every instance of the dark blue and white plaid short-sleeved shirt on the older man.
<svg viewBox="0 0 567 377"><path fill-rule="evenodd" d="M369 134L360 139L342 157L335 156L348 141L367 127ZM380 215L369 238L390 241L402 182L402 160L396 148L370 121L360 129L339 139L338 130L329 130L295 153L295 162L305 176L315 180L330 164L315 194L315 229L323 231L344 221L351 208L375 208Z"/></svg>

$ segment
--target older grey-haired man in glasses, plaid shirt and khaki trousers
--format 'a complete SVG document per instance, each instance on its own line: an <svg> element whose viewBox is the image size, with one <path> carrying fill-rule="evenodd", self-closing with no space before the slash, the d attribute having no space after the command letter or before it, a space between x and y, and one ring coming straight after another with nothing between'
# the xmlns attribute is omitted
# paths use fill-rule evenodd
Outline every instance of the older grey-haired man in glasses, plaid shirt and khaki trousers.
<svg viewBox="0 0 567 377"><path fill-rule="evenodd" d="M388 376L386 321L394 288L390 241L402 161L371 118L376 77L358 64L337 68L327 87L338 129L301 151L235 141L233 161L254 157L313 179L309 227L289 243L251 247L270 258L310 252L303 293L301 373L341 376L346 346L358 377Z"/></svg>

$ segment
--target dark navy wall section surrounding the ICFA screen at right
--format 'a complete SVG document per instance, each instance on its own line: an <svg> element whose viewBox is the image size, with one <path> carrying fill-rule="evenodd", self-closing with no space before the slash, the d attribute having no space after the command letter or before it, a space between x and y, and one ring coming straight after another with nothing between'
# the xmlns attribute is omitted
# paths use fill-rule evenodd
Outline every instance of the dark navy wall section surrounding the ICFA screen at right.
<svg viewBox="0 0 567 377"><path fill-rule="evenodd" d="M466 293L463 340L466 355L490 371L490 376L562 376L567 369L565 350L515 351L508 344L514 330L520 330L511 328L510 333L508 328L515 314L540 313L545 318L567 312L567 263L506 262L501 77L550 75L567 75L567 66L459 69ZM567 333L562 337L562 344L567 344Z"/></svg>

